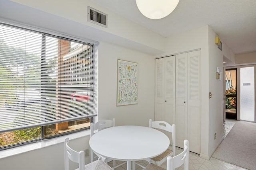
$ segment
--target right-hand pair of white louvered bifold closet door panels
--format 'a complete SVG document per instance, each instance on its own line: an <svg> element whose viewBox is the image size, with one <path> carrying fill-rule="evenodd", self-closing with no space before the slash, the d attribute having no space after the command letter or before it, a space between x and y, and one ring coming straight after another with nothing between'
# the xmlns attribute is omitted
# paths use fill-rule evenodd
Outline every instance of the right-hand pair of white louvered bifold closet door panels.
<svg viewBox="0 0 256 170"><path fill-rule="evenodd" d="M200 51L176 55L176 146L183 148L189 140L189 150L200 153Z"/></svg>

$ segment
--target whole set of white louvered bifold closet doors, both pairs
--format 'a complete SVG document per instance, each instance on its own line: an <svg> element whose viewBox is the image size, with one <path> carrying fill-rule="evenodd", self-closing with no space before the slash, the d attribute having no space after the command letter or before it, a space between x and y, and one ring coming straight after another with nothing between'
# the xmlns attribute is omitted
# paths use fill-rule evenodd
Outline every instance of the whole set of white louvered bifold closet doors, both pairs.
<svg viewBox="0 0 256 170"><path fill-rule="evenodd" d="M200 54L193 51L155 61L155 120L174 123L176 146L183 148L188 139L190 151L196 153L201 144Z"/></svg>

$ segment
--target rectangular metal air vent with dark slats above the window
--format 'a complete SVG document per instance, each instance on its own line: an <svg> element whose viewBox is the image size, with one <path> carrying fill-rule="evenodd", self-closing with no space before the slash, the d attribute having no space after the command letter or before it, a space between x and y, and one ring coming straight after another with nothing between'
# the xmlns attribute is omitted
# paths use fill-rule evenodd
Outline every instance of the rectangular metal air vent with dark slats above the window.
<svg viewBox="0 0 256 170"><path fill-rule="evenodd" d="M102 27L108 27L108 15L88 6L87 21L96 23Z"/></svg>

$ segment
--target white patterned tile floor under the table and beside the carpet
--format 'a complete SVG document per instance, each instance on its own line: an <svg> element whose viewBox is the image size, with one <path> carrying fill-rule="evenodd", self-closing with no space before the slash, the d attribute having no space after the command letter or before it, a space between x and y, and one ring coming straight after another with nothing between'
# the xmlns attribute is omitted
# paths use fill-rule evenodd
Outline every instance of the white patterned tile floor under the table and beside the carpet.
<svg viewBox="0 0 256 170"><path fill-rule="evenodd" d="M226 119L226 122L223 124L224 127L224 137L229 133L232 129L236 120ZM176 147L176 154L182 152L182 149ZM139 161L138 163L146 166L148 163L146 161ZM110 162L111 164L111 162ZM118 164L118 162L117 162ZM163 168L166 168L166 163L162 164ZM195 154L193 152L189 152L189 169L190 170L246 170L239 166L229 164L227 162L218 160L216 158L210 158L210 160L205 160L199 157L199 154ZM126 170L126 164L116 168L115 170ZM140 166L136 165L136 170L142 170ZM183 166L180 168L176 168L176 170L183 170Z"/></svg>

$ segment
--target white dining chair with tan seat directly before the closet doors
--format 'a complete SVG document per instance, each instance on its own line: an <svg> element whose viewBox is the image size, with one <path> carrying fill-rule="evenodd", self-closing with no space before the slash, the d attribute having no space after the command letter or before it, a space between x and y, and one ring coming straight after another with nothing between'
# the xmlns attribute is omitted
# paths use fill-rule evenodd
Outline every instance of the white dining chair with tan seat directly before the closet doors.
<svg viewBox="0 0 256 170"><path fill-rule="evenodd" d="M175 125L174 124L170 125L166 121L152 121L152 119L150 119L149 127L156 128L156 129L162 129L164 131L168 131L168 132L172 133L172 149L167 149L164 153L162 153L154 158L146 159L146 161L148 161L149 163L153 163L153 164L160 166L167 160L168 156L175 156L175 147L176 147ZM156 143L156 145L157 145L157 143ZM138 164L138 165L141 166L140 164ZM141 166L141 167L144 168L143 166Z"/></svg>

